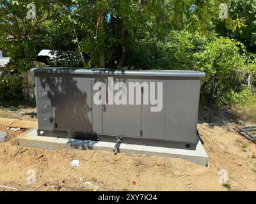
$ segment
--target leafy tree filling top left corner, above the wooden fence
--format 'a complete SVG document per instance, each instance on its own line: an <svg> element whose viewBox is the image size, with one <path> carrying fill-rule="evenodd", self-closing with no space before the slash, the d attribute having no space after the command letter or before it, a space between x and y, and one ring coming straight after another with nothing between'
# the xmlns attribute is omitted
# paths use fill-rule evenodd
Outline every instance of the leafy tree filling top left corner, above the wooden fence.
<svg viewBox="0 0 256 204"><path fill-rule="evenodd" d="M43 24L52 18L56 4L52 0L33 2L0 0L0 47L8 50L10 64L19 64L17 68L22 70L29 69L28 60L35 58L38 52L35 34L40 35Z"/></svg>

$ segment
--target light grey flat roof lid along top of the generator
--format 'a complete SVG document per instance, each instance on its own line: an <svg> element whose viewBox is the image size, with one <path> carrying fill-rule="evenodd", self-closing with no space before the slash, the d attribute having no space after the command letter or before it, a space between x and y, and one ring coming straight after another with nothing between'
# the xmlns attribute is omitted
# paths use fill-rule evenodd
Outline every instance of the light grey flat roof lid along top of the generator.
<svg viewBox="0 0 256 204"><path fill-rule="evenodd" d="M189 70L122 70L122 69L81 69L81 68L33 68L35 73L60 73L79 75L120 75L145 77L205 77L204 72Z"/></svg>

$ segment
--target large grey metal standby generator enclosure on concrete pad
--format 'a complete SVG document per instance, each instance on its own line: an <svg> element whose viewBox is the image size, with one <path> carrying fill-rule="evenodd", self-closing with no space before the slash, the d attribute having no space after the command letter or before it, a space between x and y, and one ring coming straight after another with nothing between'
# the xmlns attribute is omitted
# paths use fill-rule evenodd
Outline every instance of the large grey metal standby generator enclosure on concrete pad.
<svg viewBox="0 0 256 204"><path fill-rule="evenodd" d="M40 136L196 149L203 72L31 71Z"/></svg>

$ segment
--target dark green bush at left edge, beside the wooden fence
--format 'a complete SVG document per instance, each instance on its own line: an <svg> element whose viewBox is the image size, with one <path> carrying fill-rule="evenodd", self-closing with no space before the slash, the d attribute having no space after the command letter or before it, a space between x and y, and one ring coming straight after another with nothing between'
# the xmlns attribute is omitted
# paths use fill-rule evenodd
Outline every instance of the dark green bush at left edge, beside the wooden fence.
<svg viewBox="0 0 256 204"><path fill-rule="evenodd" d="M0 77L0 99L22 99L24 78L19 73L8 73Z"/></svg>

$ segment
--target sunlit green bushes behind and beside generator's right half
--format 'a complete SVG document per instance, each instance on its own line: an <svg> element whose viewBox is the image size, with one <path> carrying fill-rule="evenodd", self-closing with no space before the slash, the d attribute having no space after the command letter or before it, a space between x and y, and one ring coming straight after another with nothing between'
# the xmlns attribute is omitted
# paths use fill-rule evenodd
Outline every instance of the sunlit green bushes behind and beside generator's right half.
<svg viewBox="0 0 256 204"><path fill-rule="evenodd" d="M152 36L138 40L129 55L130 64L146 69L192 69L204 71L202 103L230 106L245 103L253 94L256 57L236 40L212 33L172 31L163 41ZM248 87L247 79L250 78Z"/></svg>

